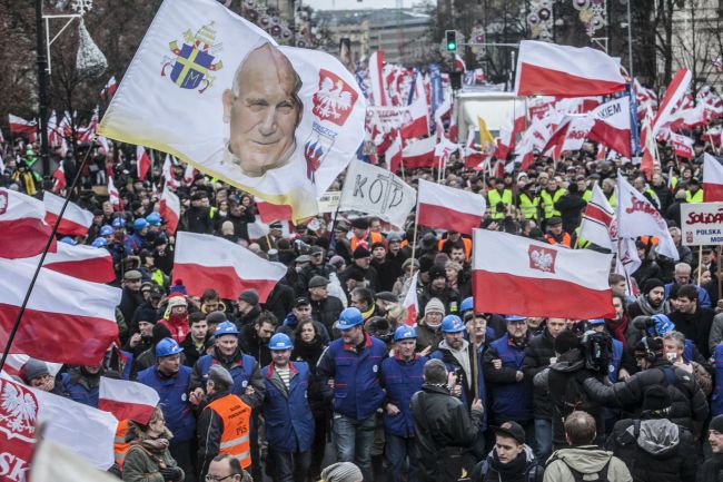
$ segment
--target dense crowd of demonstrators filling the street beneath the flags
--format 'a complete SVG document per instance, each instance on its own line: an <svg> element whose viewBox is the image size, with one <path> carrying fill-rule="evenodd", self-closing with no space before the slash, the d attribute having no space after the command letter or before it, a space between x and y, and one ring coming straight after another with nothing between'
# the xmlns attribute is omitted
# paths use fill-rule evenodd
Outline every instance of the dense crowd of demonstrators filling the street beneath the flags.
<svg viewBox="0 0 723 482"><path fill-rule="evenodd" d="M56 153L68 185L80 169L70 195L95 215L87 237L61 240L112 255L120 346L57 376L31 360L22 381L93 406L100 376L153 387L161 403L150 421L119 424L111 472L128 482L720 482L722 253L692 252L680 230L681 205L702 200L702 154L715 153L696 141L684 161L661 146L648 181L632 163L597 160L597 148L585 142L501 178L453 156L442 176L419 169L406 179L483 194L483 228L600 249L580 236L582 213L594 184L615 205L620 169L667 220L680 260L658 255L657 239L637 239L642 265L630 278L610 275L616 315L605 319L477 313L471 239L419 226L413 246L414 215L400 229L348 213L264 225L254 196L188 178L182 165L172 179L159 165L137 179L131 146ZM31 196L52 188L32 168L37 146L3 149L0 185ZM98 188L106 176L119 205ZM187 293L174 276L175 233L158 213L169 180L181 199L178 230L288 266L266 299L251 288L236 299L221 299L218 286ZM416 326L405 323L408 289Z"/></svg>

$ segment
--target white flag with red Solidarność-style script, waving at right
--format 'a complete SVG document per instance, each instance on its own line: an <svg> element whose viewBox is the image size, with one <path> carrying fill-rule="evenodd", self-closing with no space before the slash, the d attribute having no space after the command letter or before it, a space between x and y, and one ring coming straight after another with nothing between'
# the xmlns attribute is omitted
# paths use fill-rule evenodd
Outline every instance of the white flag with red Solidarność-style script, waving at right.
<svg viewBox="0 0 723 482"><path fill-rule="evenodd" d="M621 238L657 236L657 253L672 259L680 258L663 216L620 174L617 175L617 235Z"/></svg>

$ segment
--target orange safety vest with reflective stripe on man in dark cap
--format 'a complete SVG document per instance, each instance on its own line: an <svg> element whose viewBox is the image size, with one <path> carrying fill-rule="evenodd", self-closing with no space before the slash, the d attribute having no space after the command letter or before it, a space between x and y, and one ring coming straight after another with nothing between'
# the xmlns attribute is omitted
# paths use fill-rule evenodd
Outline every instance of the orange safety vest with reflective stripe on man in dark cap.
<svg viewBox="0 0 723 482"><path fill-rule="evenodd" d="M222 396L206 405L224 422L218 453L237 459L244 469L251 465L250 425L251 407L234 394Z"/></svg>

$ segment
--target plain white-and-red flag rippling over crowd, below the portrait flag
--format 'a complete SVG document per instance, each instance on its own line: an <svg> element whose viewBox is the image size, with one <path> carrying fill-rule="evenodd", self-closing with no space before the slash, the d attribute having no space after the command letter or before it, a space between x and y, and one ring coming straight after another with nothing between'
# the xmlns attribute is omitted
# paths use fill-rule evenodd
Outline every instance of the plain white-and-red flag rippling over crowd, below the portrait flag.
<svg viewBox="0 0 723 482"><path fill-rule="evenodd" d="M264 303L285 275L285 265L267 262L218 236L179 232L176 237L174 277L185 281L191 296L212 287L221 298L236 299L244 289L252 288Z"/></svg>

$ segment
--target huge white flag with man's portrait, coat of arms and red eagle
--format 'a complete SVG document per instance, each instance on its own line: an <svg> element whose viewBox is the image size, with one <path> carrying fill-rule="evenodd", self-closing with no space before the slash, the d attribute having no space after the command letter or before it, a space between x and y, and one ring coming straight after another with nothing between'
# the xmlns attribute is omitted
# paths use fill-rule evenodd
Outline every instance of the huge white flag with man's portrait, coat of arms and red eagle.
<svg viewBox="0 0 723 482"><path fill-rule="evenodd" d="M365 108L330 55L278 46L215 0L166 0L98 131L291 206L299 219L355 156Z"/></svg>

